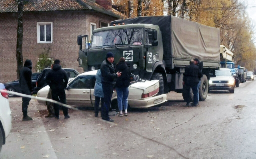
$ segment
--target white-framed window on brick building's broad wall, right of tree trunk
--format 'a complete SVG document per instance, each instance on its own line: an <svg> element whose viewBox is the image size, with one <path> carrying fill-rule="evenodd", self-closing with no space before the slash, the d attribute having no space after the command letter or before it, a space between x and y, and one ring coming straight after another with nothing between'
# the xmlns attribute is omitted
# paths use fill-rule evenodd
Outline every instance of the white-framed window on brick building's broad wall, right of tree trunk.
<svg viewBox="0 0 256 159"><path fill-rule="evenodd" d="M37 22L37 43L52 43L52 22Z"/></svg>

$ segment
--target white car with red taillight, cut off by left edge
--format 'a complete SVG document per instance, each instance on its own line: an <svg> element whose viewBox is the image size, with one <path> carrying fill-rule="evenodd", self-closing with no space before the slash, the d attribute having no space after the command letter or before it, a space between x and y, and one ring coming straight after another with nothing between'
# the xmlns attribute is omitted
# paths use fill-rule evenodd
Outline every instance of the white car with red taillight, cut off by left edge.
<svg viewBox="0 0 256 159"><path fill-rule="evenodd" d="M6 90L3 83L0 83L0 91ZM9 135L12 127L12 115L9 107L8 93L0 93L0 152L5 139Z"/></svg>

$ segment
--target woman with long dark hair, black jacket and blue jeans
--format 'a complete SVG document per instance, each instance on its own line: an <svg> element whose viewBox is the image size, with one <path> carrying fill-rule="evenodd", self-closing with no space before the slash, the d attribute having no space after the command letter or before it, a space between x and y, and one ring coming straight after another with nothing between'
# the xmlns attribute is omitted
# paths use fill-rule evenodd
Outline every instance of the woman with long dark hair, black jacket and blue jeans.
<svg viewBox="0 0 256 159"><path fill-rule="evenodd" d="M130 76L131 71L125 63L125 59L121 57L116 64L116 71L122 72L121 76L116 80L116 94L117 94L117 103L119 109L119 115L123 116L123 107L124 107L124 116L128 116L127 106L128 106L128 95L129 95L129 85L130 85Z"/></svg>

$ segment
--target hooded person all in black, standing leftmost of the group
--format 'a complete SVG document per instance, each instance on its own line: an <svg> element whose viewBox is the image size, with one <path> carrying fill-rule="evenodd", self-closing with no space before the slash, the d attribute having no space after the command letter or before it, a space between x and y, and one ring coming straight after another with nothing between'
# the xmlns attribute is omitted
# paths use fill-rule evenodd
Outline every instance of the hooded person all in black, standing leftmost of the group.
<svg viewBox="0 0 256 159"><path fill-rule="evenodd" d="M33 92L32 88L32 62L29 59L26 59L24 63L24 67L19 72L19 84L21 88L21 92L23 94L31 95ZM28 104L31 98L22 97L22 120L33 120L30 116L28 116Z"/></svg>

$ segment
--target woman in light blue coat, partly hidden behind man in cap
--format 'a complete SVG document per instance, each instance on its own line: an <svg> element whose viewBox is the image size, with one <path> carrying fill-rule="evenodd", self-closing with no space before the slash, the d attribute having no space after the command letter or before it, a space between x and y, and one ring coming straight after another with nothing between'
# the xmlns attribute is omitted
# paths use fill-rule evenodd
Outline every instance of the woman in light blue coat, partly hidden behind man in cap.
<svg viewBox="0 0 256 159"><path fill-rule="evenodd" d="M94 103L94 116L98 116L99 113L99 104L101 101L101 108L103 107L104 104L104 94L102 90L102 84L101 84L101 72L100 69L96 73L96 81L94 85L94 93L93 95L95 96L95 103Z"/></svg>

